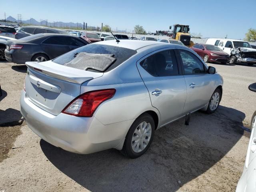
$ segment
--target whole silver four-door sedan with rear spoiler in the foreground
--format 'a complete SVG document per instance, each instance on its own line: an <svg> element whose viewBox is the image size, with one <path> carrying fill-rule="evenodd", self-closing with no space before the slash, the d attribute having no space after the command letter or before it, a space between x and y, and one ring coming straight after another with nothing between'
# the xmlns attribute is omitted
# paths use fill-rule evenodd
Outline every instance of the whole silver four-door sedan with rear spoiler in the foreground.
<svg viewBox="0 0 256 192"><path fill-rule="evenodd" d="M70 152L144 154L156 129L216 111L222 77L191 49L154 41L89 44L26 62L21 113L43 140Z"/></svg>

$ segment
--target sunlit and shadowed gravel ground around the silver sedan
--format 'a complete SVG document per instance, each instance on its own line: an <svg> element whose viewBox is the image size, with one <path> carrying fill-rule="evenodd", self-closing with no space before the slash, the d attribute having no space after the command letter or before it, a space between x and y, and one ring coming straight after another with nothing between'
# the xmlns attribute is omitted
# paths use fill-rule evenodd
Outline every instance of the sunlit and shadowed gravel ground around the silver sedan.
<svg viewBox="0 0 256 192"><path fill-rule="evenodd" d="M155 132L140 158L117 150L79 155L34 134L19 112L26 67L0 63L0 191L234 191L244 166L256 67L209 64L224 78L216 113L192 114Z"/></svg>

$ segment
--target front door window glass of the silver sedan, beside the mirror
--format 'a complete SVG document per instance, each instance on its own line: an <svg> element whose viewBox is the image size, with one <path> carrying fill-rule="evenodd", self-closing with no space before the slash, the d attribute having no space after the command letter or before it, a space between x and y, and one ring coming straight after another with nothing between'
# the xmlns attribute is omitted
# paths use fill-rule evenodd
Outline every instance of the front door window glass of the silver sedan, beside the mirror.
<svg viewBox="0 0 256 192"><path fill-rule="evenodd" d="M180 57L186 75L204 73L204 64L194 54L180 50Z"/></svg>

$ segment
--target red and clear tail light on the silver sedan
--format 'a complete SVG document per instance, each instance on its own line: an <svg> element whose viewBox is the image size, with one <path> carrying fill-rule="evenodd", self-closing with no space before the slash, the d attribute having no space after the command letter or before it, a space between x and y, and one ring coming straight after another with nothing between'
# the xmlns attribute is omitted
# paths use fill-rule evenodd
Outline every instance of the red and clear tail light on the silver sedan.
<svg viewBox="0 0 256 192"><path fill-rule="evenodd" d="M115 89L104 89L86 92L74 99L62 113L79 117L91 117L96 108L104 101L112 98Z"/></svg>

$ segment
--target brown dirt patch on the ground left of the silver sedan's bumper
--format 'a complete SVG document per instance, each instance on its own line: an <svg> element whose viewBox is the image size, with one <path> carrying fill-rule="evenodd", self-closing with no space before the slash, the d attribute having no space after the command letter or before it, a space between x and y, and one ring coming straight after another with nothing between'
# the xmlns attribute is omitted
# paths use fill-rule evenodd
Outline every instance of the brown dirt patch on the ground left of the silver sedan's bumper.
<svg viewBox="0 0 256 192"><path fill-rule="evenodd" d="M8 158L8 152L12 149L17 136L21 134L21 125L25 123L20 121L0 124L0 162Z"/></svg>

